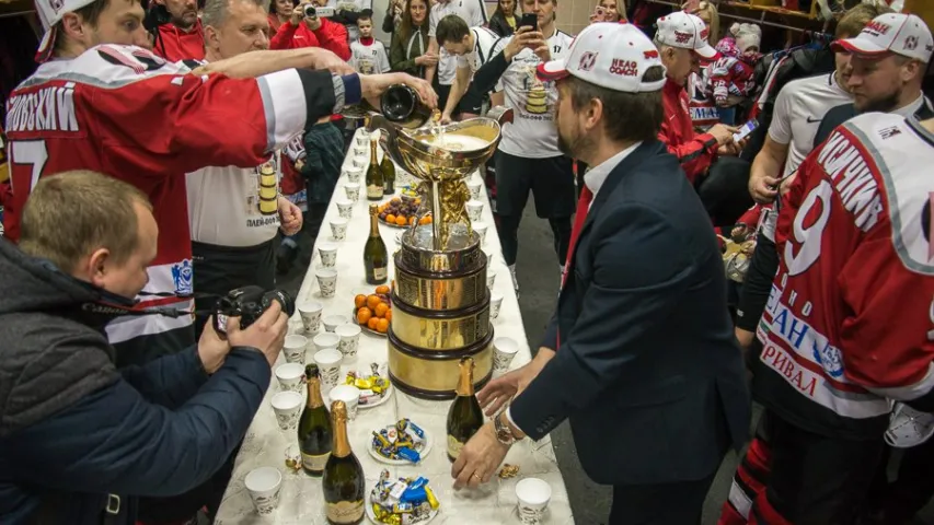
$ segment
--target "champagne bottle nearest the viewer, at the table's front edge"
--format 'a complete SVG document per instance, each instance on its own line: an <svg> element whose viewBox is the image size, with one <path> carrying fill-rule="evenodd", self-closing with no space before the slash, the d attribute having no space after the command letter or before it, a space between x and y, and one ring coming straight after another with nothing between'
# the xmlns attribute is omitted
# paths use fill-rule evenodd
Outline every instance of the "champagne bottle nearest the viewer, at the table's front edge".
<svg viewBox="0 0 934 525"><path fill-rule="evenodd" d="M322 488L327 523L357 524L364 520L366 479L364 467L350 450L347 439L347 407L344 401L331 404L334 424L334 448L324 466Z"/></svg>

